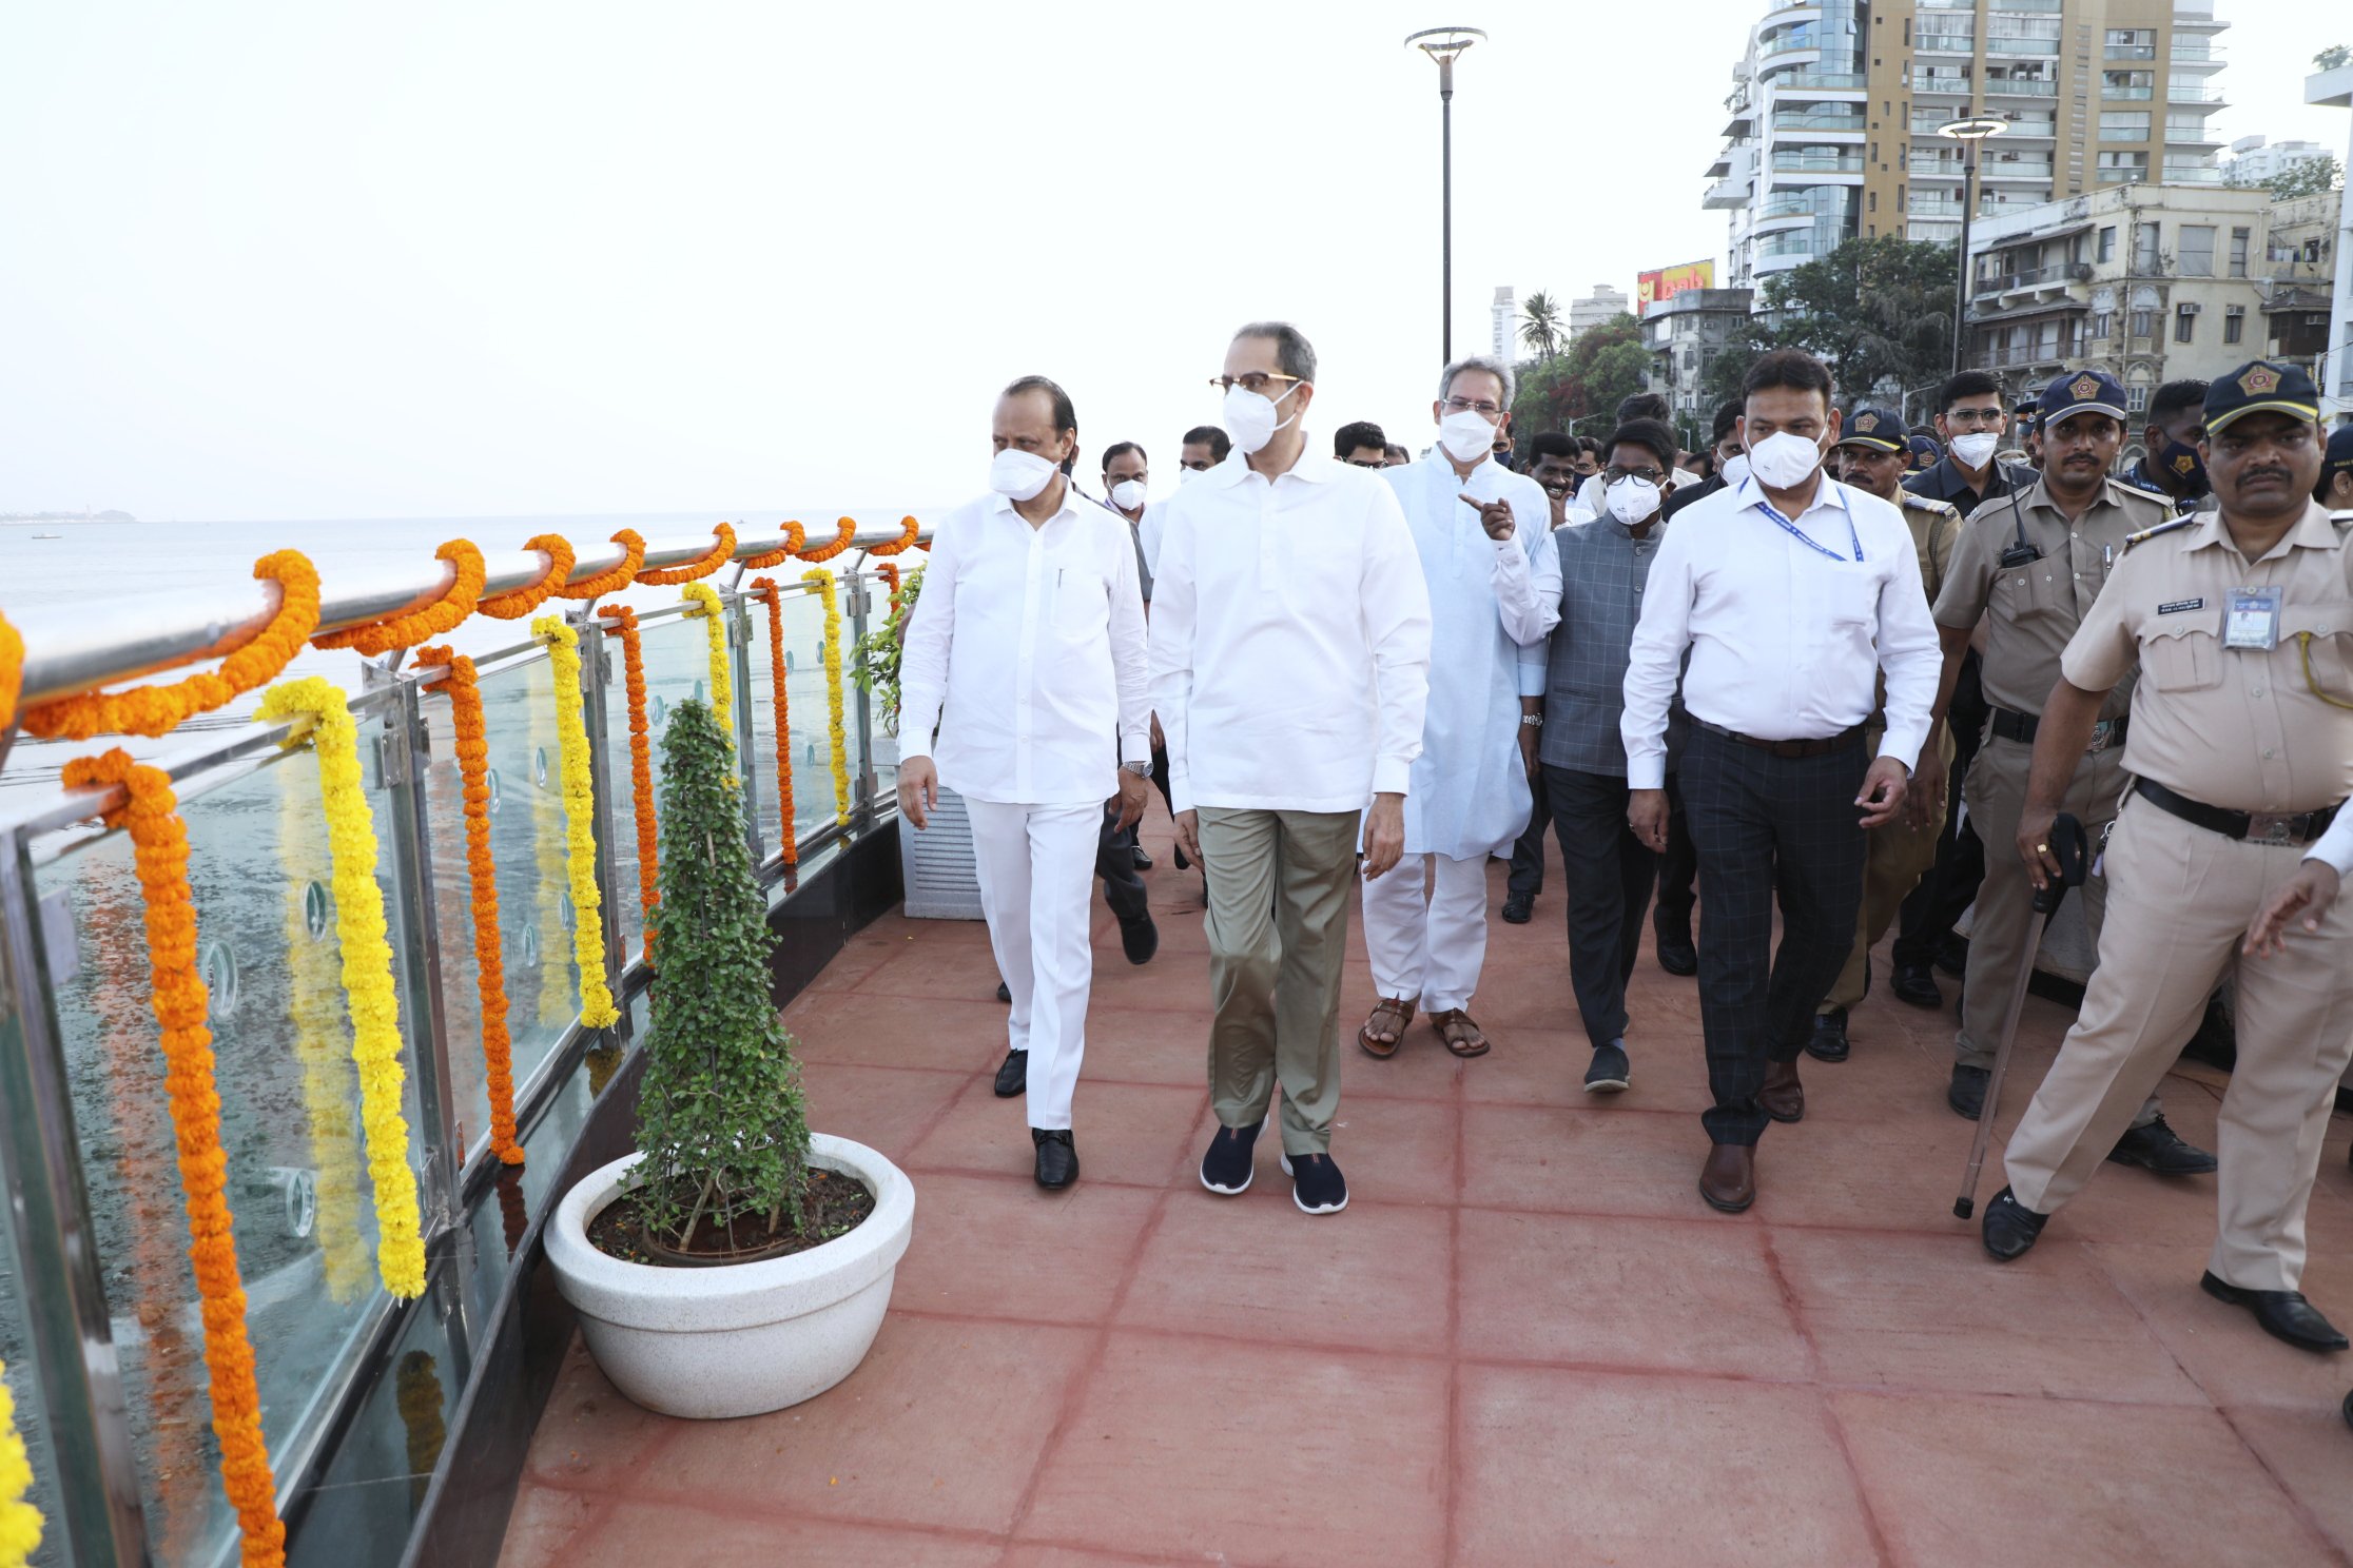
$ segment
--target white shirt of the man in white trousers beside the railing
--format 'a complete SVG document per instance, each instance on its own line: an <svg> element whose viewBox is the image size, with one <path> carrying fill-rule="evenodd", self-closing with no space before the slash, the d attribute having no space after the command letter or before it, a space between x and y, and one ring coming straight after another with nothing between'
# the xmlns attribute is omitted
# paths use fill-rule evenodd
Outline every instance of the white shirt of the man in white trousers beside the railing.
<svg viewBox="0 0 2353 1568"><path fill-rule="evenodd" d="M1005 496L948 512L899 656L899 755L972 799L1054 806L1118 795L1148 762L1144 597L1127 522L1064 484L1031 527ZM1113 750L1118 743L1118 750Z"/></svg>

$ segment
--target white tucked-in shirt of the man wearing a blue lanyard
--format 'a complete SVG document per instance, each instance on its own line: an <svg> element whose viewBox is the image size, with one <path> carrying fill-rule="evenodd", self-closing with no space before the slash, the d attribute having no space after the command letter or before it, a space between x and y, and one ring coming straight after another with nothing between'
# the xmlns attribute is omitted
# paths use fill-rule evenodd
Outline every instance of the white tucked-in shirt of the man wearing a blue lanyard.
<svg viewBox="0 0 2353 1568"><path fill-rule="evenodd" d="M1904 512L1821 475L1791 524L1821 548L1777 522L1755 477L1675 512L1626 668L1631 788L1666 783L1666 705L1685 649L1685 710L1760 741L1821 741L1861 724L1885 670L1880 757L1920 757L1944 651Z"/></svg>

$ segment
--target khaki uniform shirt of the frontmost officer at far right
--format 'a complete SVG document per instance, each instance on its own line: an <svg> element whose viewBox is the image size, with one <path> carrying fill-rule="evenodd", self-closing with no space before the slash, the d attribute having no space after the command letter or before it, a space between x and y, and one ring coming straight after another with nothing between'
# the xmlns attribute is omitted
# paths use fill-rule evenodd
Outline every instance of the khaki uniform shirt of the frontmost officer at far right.
<svg viewBox="0 0 2353 1568"><path fill-rule="evenodd" d="M2233 588L2282 590L2275 649L2221 644ZM2134 665L2129 773L2231 811L2318 811L2353 792L2353 555L2318 505L2252 564L2221 512L2134 545L2064 672L2099 691Z"/></svg>

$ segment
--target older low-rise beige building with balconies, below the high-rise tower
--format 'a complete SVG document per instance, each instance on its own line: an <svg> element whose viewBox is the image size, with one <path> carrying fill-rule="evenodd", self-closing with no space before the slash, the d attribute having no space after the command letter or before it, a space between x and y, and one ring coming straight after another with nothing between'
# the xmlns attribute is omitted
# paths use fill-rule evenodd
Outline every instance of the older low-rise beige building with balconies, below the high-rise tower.
<svg viewBox="0 0 2353 1568"><path fill-rule="evenodd" d="M2139 411L2162 381L2327 341L2339 195L2120 186L1979 219L1965 362L2024 395L2097 367Z"/></svg>

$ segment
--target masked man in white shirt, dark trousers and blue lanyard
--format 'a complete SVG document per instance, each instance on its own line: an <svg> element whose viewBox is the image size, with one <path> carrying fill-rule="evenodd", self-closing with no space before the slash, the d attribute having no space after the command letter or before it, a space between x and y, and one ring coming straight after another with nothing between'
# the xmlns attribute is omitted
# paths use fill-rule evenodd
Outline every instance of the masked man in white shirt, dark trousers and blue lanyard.
<svg viewBox="0 0 2353 1568"><path fill-rule="evenodd" d="M1887 501L1821 473L1838 444L1831 371L1795 348L1748 369L1751 475L1675 512L1626 668L1626 823L1666 849L1666 705L1682 654L1692 717L1680 783L1699 851L1699 1197L1755 1201L1765 1121L1798 1121L1798 1053L1854 947L1864 830L1894 818L1929 731L1944 654L1920 552ZM1875 682L1887 733L1864 752ZM1781 950L1772 952L1774 903ZM1769 973L1767 973L1769 969Z"/></svg>

